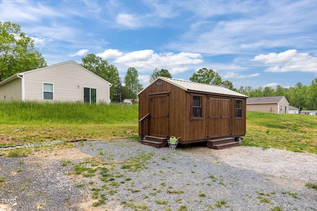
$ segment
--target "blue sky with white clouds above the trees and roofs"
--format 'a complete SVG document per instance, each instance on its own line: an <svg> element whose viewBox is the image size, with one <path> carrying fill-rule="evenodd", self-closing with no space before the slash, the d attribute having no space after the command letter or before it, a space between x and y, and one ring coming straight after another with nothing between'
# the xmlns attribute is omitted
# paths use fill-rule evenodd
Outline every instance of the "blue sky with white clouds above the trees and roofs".
<svg viewBox="0 0 317 211"><path fill-rule="evenodd" d="M49 65L88 53L189 80L213 69L234 87L310 85L317 78L317 0L0 0Z"/></svg>

